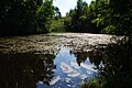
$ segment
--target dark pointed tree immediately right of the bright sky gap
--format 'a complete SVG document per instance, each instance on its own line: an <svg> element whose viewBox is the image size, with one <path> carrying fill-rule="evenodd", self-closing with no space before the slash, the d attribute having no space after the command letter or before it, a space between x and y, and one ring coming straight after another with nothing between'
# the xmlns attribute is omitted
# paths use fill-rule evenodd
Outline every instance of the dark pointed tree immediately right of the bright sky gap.
<svg viewBox="0 0 132 88"><path fill-rule="evenodd" d="M84 32L86 29L86 18L88 14L88 4L82 0L77 1L77 6L74 10L69 11L72 21L69 23L72 31Z"/></svg>

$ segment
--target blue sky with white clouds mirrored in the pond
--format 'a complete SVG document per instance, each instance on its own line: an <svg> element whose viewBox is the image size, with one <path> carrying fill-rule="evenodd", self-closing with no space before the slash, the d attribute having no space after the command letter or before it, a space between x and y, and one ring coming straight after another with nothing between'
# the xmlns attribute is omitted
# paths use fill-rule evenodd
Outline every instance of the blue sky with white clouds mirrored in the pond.
<svg viewBox="0 0 132 88"><path fill-rule="evenodd" d="M78 88L79 82L90 79L97 73L88 57L79 66L77 57L69 53L68 48L61 48L54 64L56 69L54 69L54 77L50 81L50 86L38 81L37 88Z"/></svg>

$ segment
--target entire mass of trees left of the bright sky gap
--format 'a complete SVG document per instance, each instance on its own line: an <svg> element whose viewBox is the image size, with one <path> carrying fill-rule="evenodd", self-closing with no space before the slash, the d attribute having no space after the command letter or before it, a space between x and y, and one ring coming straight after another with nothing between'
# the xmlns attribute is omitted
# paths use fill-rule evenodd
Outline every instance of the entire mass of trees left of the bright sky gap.
<svg viewBox="0 0 132 88"><path fill-rule="evenodd" d="M0 35L48 32L53 15L53 0L2 0Z"/></svg>

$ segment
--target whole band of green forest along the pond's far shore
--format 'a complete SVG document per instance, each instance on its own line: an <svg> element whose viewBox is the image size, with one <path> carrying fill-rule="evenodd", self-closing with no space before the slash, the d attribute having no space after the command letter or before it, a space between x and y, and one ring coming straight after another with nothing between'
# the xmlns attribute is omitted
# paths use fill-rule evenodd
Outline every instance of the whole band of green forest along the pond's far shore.
<svg viewBox="0 0 132 88"><path fill-rule="evenodd" d="M2 0L0 34L87 32L130 35L131 0L77 0L75 9L61 15L53 0Z"/></svg>

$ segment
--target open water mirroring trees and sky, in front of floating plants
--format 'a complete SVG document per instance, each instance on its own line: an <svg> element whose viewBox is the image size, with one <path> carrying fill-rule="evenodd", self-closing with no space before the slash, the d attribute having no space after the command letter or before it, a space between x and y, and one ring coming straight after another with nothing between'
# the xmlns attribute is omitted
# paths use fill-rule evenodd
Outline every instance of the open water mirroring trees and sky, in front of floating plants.
<svg viewBox="0 0 132 88"><path fill-rule="evenodd" d="M68 47L56 54L0 53L0 88L78 88L98 73L88 55Z"/></svg>

